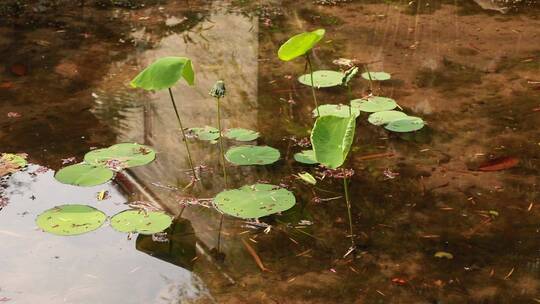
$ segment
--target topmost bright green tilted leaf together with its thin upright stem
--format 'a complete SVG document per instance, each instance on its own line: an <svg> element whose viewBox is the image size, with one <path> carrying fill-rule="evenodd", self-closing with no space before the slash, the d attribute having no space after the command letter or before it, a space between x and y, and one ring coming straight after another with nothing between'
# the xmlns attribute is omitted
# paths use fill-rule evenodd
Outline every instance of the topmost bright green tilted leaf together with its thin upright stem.
<svg viewBox="0 0 540 304"><path fill-rule="evenodd" d="M278 57L283 61L290 61L300 56L304 56L306 58L306 64L311 75L311 94L313 95L315 109L319 108L319 103L317 102L317 95L315 94L313 65L311 64L310 53L313 47L324 37L325 32L326 31L324 29L318 29L312 32L304 32L294 35L284 44L282 44L278 50Z"/></svg>

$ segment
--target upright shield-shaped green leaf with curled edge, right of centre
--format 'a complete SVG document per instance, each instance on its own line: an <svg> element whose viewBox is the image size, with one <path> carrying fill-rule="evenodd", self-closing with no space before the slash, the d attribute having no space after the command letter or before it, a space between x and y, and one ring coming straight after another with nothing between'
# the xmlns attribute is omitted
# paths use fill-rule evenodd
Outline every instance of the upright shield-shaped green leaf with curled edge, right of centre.
<svg viewBox="0 0 540 304"><path fill-rule="evenodd" d="M322 116L311 132L317 161L331 169L340 167L351 149L356 117Z"/></svg>

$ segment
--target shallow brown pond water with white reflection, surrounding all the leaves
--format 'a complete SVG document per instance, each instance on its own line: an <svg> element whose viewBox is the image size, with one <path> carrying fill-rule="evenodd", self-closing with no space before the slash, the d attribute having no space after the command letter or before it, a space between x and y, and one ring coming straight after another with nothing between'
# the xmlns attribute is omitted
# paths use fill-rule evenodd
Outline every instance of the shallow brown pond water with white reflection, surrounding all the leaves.
<svg viewBox="0 0 540 304"><path fill-rule="evenodd" d="M0 302L540 303L540 3L105 2L1 6L0 152L32 164L2 180ZM293 176L322 171L293 159L313 124L311 91L296 81L304 64L276 56L287 37L321 27L317 69L348 58L389 72L374 93L427 122L399 135L361 114L347 163L358 247L346 257L341 181ZM129 86L163 56L195 66L195 86L173 89L185 126L216 125L208 92L223 79L225 127L257 130L258 145L280 150L273 165L230 165L229 187L267 181L297 199L262 219L266 232L226 216L224 258L214 254L221 216L205 204L225 187L218 145L190 140L207 169L183 190L189 165L168 93ZM355 97L368 89L353 80ZM348 101L342 88L317 94ZM156 161L101 186L54 179L63 160L120 142L152 146ZM519 163L477 170L499 157ZM35 224L57 205L110 216L141 200L176 216L166 235L105 225L60 237Z"/></svg>

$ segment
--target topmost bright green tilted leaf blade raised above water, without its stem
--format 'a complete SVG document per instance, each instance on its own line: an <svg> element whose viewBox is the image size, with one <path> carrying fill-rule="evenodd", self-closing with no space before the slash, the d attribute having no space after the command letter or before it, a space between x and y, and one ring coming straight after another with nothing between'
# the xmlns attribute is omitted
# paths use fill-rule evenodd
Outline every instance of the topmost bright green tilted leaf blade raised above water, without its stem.
<svg viewBox="0 0 540 304"><path fill-rule="evenodd" d="M324 33L324 29L318 29L313 32L304 32L292 36L279 47L279 59L290 61L305 55L324 37Z"/></svg>

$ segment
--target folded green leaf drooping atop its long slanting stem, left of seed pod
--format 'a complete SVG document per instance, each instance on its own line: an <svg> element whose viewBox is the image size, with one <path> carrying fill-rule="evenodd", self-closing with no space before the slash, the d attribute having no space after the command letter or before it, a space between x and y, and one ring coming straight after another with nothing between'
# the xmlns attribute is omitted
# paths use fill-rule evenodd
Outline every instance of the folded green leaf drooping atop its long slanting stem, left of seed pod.
<svg viewBox="0 0 540 304"><path fill-rule="evenodd" d="M178 126L182 132L184 144L188 155L188 162L191 168L193 178L197 178L195 167L193 165L193 158L191 157L191 151L189 150L189 144L184 131L182 120L178 112L178 107L174 100L174 96L171 88L178 83L181 79L184 79L186 83L192 86L195 83L195 71L191 60L186 57L163 57L145 68L140 72L132 81L131 86L134 88L141 88L147 91L160 91L167 89L169 91L169 97L171 99L176 120Z"/></svg>

